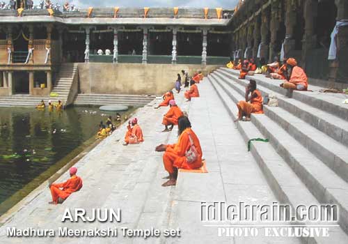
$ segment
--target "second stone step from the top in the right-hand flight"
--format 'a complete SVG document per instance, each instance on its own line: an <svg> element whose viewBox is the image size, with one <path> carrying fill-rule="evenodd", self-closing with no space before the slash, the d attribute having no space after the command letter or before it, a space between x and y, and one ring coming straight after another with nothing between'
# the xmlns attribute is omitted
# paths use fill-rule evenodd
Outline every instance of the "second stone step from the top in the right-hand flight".
<svg viewBox="0 0 348 244"><path fill-rule="evenodd" d="M216 75L221 75L221 78L225 80L233 79L235 82L242 84L243 86L247 86L248 84L248 81L238 79L235 75L227 73L226 70L223 69L216 71ZM262 96L275 93L260 84L258 84L258 90L262 92ZM309 123L318 130L325 132L326 135L329 135L329 137L332 137L336 141L348 146L348 123L345 119L341 119L333 114L328 114L316 107L306 105L304 102L299 100L286 98L280 93L276 93L276 96L279 107L282 107L295 116L298 116L300 119L303 119L303 121L306 121L306 123Z"/></svg>

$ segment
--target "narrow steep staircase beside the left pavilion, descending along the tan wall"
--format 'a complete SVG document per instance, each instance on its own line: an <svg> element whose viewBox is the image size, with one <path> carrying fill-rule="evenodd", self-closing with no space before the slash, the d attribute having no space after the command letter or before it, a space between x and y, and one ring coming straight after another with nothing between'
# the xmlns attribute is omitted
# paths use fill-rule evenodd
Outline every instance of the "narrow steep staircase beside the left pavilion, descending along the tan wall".
<svg viewBox="0 0 348 244"><path fill-rule="evenodd" d="M77 63L63 63L61 65L61 69L56 77L56 83L52 89L53 93L58 93L58 97L51 98L51 100L61 100L64 105L67 103L75 75L77 75Z"/></svg>

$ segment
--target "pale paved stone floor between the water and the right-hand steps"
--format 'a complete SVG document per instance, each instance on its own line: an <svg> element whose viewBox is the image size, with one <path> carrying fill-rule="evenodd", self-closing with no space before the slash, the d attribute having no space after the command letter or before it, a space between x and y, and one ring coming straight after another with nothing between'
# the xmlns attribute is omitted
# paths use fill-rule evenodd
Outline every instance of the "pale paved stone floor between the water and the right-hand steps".
<svg viewBox="0 0 348 244"><path fill-rule="evenodd" d="M161 153L154 151L161 143L175 143L177 129L162 133L161 118L168 107L153 109L150 105L136 113L143 128L145 142L122 146L125 126L104 139L77 162L84 187L63 204L48 205L47 183L32 192L16 213L9 215L0 227L0 243L299 243L296 238L219 237L218 227L200 220L201 201L227 204L271 204L276 197L267 185L257 163L232 123L211 84L199 85L200 98L185 102L183 93L177 103L189 113L193 130L200 139L208 174L180 173L176 187L162 188L166 176ZM63 174L58 181L68 178ZM117 222L61 222L65 208L120 208L122 220ZM219 222L218 224L231 224ZM256 224L253 222L258 229ZM40 229L177 229L180 238L8 238L6 229L27 227Z"/></svg>

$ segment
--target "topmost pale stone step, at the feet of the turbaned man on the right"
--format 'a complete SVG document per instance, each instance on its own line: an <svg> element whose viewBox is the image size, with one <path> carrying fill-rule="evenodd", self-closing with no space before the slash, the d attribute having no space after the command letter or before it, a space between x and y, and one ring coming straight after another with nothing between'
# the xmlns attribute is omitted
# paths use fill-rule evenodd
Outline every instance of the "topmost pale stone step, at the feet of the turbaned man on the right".
<svg viewBox="0 0 348 244"><path fill-rule="evenodd" d="M237 70L230 70L228 68L221 68L232 75L239 75ZM281 80L269 79L264 75L246 76L246 79L255 79L258 84L275 91L277 93L285 95L286 90L279 85L283 83ZM341 119L348 120L348 106L342 104L343 98L338 98L335 94L320 93L318 86L309 85L308 89L312 89L314 92L294 91L292 98L299 100L304 104L321 109L329 114L340 117Z"/></svg>

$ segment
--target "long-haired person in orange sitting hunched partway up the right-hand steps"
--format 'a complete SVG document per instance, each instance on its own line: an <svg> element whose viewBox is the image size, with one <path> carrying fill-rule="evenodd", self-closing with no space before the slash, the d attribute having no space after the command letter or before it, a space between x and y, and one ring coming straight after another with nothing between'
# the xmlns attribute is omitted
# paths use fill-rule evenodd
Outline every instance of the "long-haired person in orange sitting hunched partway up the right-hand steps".
<svg viewBox="0 0 348 244"><path fill-rule="evenodd" d="M251 93L250 96L249 93ZM252 113L263 114L262 101L262 95L256 89L256 82L254 79L251 79L248 86L246 86L245 101L239 101L237 103L238 118L235 121L242 120L243 116L246 117L246 121L250 121Z"/></svg>

